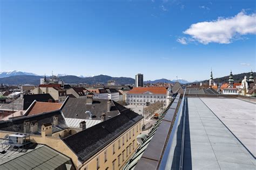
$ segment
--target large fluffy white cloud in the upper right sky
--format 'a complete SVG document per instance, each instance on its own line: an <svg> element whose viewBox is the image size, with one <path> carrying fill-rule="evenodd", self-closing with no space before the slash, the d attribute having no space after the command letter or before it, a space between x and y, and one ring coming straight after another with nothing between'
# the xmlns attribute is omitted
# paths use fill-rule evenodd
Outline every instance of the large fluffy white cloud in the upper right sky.
<svg viewBox="0 0 256 170"><path fill-rule="evenodd" d="M183 33L203 44L229 44L242 35L256 34L256 13L247 15L245 11L241 11L234 17L219 17L216 21L192 24Z"/></svg>

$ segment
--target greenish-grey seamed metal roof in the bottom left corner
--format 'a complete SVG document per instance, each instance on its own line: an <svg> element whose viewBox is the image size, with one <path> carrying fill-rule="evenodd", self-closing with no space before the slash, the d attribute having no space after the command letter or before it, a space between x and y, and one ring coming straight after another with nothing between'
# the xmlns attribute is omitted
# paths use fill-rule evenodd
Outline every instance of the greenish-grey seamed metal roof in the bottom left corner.
<svg viewBox="0 0 256 170"><path fill-rule="evenodd" d="M66 164L73 166L70 158L48 146L30 144L18 152L4 142L5 139L0 139L1 150L6 151L0 154L0 169L67 169Z"/></svg>

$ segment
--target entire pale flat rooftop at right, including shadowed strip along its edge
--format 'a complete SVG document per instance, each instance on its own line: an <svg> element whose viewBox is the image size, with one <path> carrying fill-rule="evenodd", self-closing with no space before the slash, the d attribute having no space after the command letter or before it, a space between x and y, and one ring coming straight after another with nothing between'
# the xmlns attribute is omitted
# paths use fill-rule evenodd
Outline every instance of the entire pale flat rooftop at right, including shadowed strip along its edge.
<svg viewBox="0 0 256 170"><path fill-rule="evenodd" d="M184 169L256 169L254 104L189 97L186 104ZM166 169L179 168L179 134L174 135Z"/></svg>

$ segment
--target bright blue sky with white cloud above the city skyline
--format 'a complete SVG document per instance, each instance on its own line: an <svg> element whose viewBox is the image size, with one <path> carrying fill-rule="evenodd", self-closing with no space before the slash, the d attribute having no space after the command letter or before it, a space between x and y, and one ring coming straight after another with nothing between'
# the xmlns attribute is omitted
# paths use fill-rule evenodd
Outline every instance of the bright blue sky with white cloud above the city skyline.
<svg viewBox="0 0 256 170"><path fill-rule="evenodd" d="M254 1L2 0L0 11L0 72L191 81L211 67L255 71Z"/></svg>

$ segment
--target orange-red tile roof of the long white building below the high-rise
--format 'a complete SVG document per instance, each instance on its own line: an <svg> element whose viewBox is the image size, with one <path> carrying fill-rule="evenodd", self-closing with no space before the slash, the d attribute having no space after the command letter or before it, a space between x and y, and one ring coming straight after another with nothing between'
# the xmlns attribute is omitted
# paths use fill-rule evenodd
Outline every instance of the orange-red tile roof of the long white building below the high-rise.
<svg viewBox="0 0 256 170"><path fill-rule="evenodd" d="M167 90L165 87L134 87L128 93L129 94L143 94L147 91L149 91L153 94L166 94Z"/></svg>

